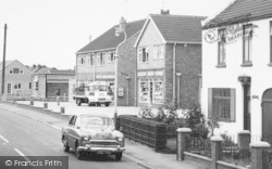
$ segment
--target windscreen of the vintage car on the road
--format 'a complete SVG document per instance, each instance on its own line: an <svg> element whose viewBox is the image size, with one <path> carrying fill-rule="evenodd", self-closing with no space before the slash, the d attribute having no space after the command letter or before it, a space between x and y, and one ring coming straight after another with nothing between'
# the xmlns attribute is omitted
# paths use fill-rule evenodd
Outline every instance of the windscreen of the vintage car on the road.
<svg viewBox="0 0 272 169"><path fill-rule="evenodd" d="M81 126L83 127L112 127L112 120L108 117L81 117Z"/></svg>

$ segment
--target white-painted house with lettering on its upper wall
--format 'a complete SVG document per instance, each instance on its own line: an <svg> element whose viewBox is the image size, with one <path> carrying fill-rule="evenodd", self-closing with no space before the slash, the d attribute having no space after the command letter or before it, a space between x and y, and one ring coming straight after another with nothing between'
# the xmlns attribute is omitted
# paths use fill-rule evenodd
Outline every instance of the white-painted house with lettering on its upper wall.
<svg viewBox="0 0 272 169"><path fill-rule="evenodd" d="M219 132L272 130L272 1L236 0L202 23L202 109Z"/></svg>

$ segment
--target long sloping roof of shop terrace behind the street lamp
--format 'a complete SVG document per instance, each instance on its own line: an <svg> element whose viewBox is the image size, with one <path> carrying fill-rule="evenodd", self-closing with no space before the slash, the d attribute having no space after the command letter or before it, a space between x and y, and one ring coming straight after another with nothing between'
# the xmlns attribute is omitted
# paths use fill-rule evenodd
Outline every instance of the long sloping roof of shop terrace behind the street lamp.
<svg viewBox="0 0 272 169"><path fill-rule="evenodd" d="M131 23L126 23L126 36L129 39L136 32L138 32L145 24L145 20L139 20ZM113 26L104 34L99 36L97 39L89 42L87 46L82 48L77 53L85 53L91 51L99 51L99 50L108 50L108 49L115 49L119 43L121 43L124 39L124 35L121 34L119 37L115 36L115 28L119 25Z"/></svg>

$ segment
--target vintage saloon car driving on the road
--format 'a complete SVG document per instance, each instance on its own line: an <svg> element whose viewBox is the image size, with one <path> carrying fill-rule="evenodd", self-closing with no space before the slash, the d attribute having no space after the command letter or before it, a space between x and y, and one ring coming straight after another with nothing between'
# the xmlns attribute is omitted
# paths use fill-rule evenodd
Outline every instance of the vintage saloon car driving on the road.
<svg viewBox="0 0 272 169"><path fill-rule="evenodd" d="M69 126L62 128L64 152L73 150L78 159L85 155L114 155L121 160L125 151L124 135L115 130L112 118L106 115L74 115Z"/></svg>

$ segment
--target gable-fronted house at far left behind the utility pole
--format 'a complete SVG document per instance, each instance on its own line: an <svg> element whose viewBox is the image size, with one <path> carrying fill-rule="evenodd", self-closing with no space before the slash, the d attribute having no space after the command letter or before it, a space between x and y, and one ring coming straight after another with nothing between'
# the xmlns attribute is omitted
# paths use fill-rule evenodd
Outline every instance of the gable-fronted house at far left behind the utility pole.
<svg viewBox="0 0 272 169"><path fill-rule="evenodd" d="M0 63L0 89L2 89L2 62ZM32 70L17 60L5 61L4 94L7 100L29 98Z"/></svg>

